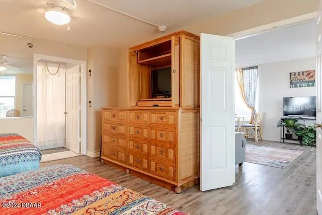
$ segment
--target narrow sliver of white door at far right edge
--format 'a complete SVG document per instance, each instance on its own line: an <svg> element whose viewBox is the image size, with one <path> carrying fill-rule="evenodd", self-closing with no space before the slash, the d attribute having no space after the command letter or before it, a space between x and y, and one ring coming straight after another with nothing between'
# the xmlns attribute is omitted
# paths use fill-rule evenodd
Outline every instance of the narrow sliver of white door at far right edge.
<svg viewBox="0 0 322 215"><path fill-rule="evenodd" d="M318 39L316 47L316 71L315 71L315 86L316 86L316 123L322 123L322 112L321 112L321 67L322 67L322 1L320 1L319 7L319 18L317 22L318 26ZM321 128L316 129L316 209L318 214L322 214L322 130Z"/></svg>

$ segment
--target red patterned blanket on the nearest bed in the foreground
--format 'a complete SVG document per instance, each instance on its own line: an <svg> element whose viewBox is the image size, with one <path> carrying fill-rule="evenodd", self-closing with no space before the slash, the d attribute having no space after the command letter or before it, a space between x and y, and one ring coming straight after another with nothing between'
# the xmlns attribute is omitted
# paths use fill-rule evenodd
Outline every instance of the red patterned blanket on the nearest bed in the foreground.
<svg viewBox="0 0 322 215"><path fill-rule="evenodd" d="M0 178L0 214L187 215L71 165Z"/></svg>

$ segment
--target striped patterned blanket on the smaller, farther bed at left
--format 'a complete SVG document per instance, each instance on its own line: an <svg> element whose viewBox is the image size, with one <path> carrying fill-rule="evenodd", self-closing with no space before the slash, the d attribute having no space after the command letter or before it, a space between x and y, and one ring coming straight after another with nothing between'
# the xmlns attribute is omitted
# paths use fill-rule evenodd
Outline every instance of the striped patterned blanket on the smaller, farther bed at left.
<svg viewBox="0 0 322 215"><path fill-rule="evenodd" d="M40 150L17 133L0 134L0 177L39 168Z"/></svg>

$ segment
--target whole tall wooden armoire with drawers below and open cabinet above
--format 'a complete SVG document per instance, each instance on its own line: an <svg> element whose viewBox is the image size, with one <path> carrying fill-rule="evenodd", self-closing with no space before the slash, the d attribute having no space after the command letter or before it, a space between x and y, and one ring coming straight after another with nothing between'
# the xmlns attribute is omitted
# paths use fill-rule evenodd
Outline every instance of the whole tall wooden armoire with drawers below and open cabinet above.
<svg viewBox="0 0 322 215"><path fill-rule="evenodd" d="M163 68L171 87L155 96ZM199 37L186 31L129 48L128 106L102 108L101 161L176 193L198 184L199 74Z"/></svg>

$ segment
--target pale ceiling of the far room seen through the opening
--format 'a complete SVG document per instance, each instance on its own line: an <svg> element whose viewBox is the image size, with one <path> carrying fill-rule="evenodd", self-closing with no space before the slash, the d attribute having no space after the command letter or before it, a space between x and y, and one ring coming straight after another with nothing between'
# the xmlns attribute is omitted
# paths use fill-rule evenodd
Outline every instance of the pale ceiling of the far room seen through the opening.
<svg viewBox="0 0 322 215"><path fill-rule="evenodd" d="M315 21L237 40L236 67L314 57Z"/></svg>

